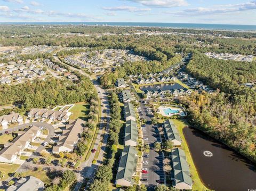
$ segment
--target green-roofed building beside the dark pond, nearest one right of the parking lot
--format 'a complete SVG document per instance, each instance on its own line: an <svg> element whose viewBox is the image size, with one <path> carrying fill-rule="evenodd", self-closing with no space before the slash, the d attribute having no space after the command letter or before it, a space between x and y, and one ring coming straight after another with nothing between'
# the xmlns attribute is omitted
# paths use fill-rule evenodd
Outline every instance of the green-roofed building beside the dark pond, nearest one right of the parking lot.
<svg viewBox="0 0 256 191"><path fill-rule="evenodd" d="M186 155L180 148L174 148L172 150L172 163L174 171L175 184L179 182L185 182L188 185L192 185L193 181L190 177L188 163L186 161Z"/></svg>

